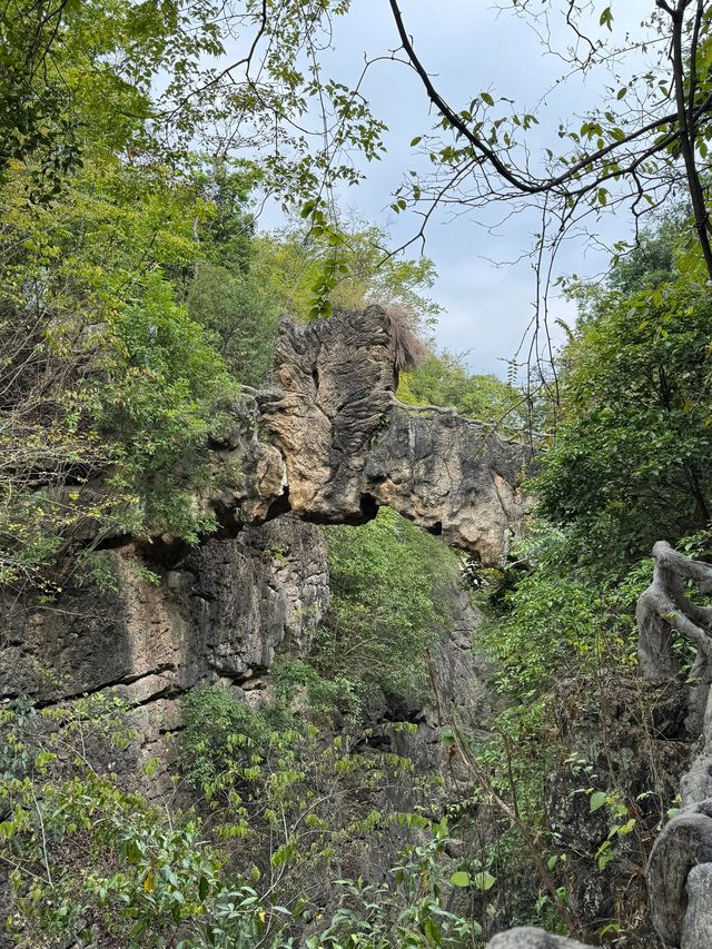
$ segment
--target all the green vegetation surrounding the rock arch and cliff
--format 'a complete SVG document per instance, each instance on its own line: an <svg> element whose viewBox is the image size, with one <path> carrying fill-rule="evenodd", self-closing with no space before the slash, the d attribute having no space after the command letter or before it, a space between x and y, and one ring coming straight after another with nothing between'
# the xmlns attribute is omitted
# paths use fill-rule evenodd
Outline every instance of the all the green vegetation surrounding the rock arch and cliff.
<svg viewBox="0 0 712 949"><path fill-rule="evenodd" d="M208 444L244 387L266 380L283 314L306 322L379 303L423 337L402 402L454 405L507 435L533 423L550 433L526 433L547 439L528 484L536 514L510 562L488 572L461 570L392 512L326 528L332 605L310 654L271 671L270 704L211 688L186 699L171 764L180 807L156 807L115 774L140 710L102 695L43 710L18 696L0 710L9 938L27 949L68 935L85 946L459 949L503 925L543 922L645 945L642 868L675 775L651 751L634 604L654 541L712 547L712 301L691 215L681 206L659 218L602 283L570 287L578 319L540 367L538 392L473 375L428 338L439 313L432 261L392 256L387 234L324 197L357 179L342 164L348 149L382 151L382 123L314 59L315 36L348 4L268 6L271 19L247 3L233 22L274 42L264 79L235 88L205 65L226 51L221 4L6 4L6 596L57 609L72 576L111 582L92 556L106 541L190 546L216 530L196 503L218 477ZM323 147L298 125L325 97L335 125ZM273 129L277 145L260 152ZM587 129L577 146L604 131ZM436 156L472 158L459 146ZM258 228L267 195L285 209L279 231ZM392 720L437 704L432 659L458 584L485 612L475 645L495 711L486 733L442 722L447 760L462 769L444 791L444 775L434 787L379 748L368 715L386 709L405 735L417 725ZM691 656L680 658L684 672ZM616 731L622 705L637 729L625 738L650 764L634 778ZM586 718L602 749L576 745L572 722ZM556 782L602 821L586 852L554 826ZM360 872L374 853L376 882ZM580 898L592 874L605 891L593 921Z"/></svg>

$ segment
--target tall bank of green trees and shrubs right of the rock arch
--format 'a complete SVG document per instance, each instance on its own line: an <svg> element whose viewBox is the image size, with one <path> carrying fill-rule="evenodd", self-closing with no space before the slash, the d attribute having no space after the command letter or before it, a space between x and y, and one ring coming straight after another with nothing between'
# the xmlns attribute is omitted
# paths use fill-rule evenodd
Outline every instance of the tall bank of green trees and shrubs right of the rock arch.
<svg viewBox="0 0 712 949"><path fill-rule="evenodd" d="M630 734L621 737L607 719L604 696L629 683L625 694L641 704L641 737L647 734L646 700L631 684L635 603L651 577L647 553L660 538L698 552L709 547L709 291L699 280L699 258L679 249L678 234L674 217L663 221L604 286L575 289L581 318L560 360L556 437L530 483L537 520L517 560L479 592L487 620L477 641L495 662L505 708L474 755L490 798L505 804L497 844L504 872L525 873L531 831L562 892L577 886L573 867L584 859L605 871L612 911L615 887L635 880L646 860L674 781L659 763L645 763L653 754L645 745L636 781L647 773L650 785L626 783L625 769L612 762L624 760L616 743L630 742ZM568 716L576 713L562 715L562 702L597 710L599 751L572 749ZM593 754L595 765L584 762L589 787L572 793L589 795L601 824L593 819L593 832L602 833L587 858L561 851L546 813L547 775L577 773L582 753ZM551 894L551 888L543 893L548 909L571 931L567 896L555 906ZM634 931L635 912L633 906L627 917L620 911L605 932Z"/></svg>

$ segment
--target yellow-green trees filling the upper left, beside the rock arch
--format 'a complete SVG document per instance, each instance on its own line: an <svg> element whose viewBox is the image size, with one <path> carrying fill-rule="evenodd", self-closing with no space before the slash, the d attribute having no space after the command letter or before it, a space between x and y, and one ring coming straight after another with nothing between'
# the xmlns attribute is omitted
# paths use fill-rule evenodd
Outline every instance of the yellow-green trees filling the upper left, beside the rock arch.
<svg viewBox="0 0 712 949"><path fill-rule="evenodd" d="M293 135L315 97L342 145L379 149L367 105L304 69L305 51L347 8L7 4L0 582L51 593L44 567L68 561L77 536L195 542L214 526L194 500L211 478L206 444L228 418L235 378L266 375L289 296L275 288L291 286L285 274L300 249L296 236L255 238L250 190L276 188L294 207L327 179L353 179L350 164L324 152L322 127L316 151ZM250 56L231 70L209 65L238 33ZM224 128L236 116L246 137ZM278 145L256 164L254 144L275 122ZM253 160L233 157L241 146ZM369 237L354 241L363 251ZM312 281L327 244L313 235ZM362 298L370 280L419 299L431 265L386 266L376 278L384 256L364 263Z"/></svg>

